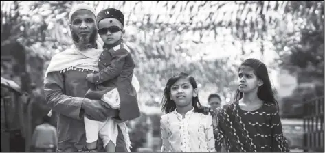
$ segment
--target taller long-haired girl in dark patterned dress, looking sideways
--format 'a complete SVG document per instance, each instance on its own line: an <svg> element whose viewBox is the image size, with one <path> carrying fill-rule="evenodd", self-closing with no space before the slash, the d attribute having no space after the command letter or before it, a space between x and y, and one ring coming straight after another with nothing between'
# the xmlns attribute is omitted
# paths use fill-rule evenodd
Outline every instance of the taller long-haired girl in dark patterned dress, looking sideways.
<svg viewBox="0 0 325 153"><path fill-rule="evenodd" d="M217 111L216 147L227 152L289 152L267 67L246 59L239 68L235 100Z"/></svg>

